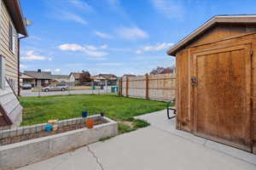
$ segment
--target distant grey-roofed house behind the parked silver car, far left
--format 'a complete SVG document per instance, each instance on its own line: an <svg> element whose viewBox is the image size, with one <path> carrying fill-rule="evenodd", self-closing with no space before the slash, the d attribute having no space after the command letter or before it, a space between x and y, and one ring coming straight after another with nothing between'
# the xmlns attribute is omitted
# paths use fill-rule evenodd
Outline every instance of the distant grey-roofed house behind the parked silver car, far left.
<svg viewBox="0 0 256 170"><path fill-rule="evenodd" d="M33 87L48 86L49 82L52 79L50 71L41 71L40 69L38 69L38 71L24 71L24 74L29 77L35 78L35 82L32 83ZM23 80L23 83L24 83L24 80Z"/></svg>

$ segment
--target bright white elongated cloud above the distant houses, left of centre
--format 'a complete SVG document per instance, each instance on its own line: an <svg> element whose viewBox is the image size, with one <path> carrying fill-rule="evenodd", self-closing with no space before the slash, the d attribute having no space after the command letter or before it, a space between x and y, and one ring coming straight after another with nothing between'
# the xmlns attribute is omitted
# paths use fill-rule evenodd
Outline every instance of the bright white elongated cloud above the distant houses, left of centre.
<svg viewBox="0 0 256 170"><path fill-rule="evenodd" d="M96 51L98 48L96 48L95 46L92 46L92 45L81 46L76 43L62 44L59 46L59 49L61 49L62 51L80 51L95 57L102 57L102 56L108 55L108 53L106 52Z"/></svg>

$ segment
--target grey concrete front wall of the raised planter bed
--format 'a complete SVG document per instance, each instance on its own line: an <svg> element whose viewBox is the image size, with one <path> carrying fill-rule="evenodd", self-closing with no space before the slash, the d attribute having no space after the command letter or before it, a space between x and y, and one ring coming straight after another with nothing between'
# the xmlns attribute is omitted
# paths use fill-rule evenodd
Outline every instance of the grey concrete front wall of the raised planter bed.
<svg viewBox="0 0 256 170"><path fill-rule="evenodd" d="M1 145L0 169L8 170L23 167L118 134L117 122L102 116L89 116L89 118L101 120L103 123L96 125L92 129L87 127L75 129L75 126L71 126L75 130L55 133L15 144Z"/></svg>

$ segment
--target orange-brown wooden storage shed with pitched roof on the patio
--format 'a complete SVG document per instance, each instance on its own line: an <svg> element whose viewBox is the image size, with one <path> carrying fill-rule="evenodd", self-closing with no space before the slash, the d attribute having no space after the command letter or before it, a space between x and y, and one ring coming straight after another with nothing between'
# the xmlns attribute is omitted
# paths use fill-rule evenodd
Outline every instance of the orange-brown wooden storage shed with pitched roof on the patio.
<svg viewBox="0 0 256 170"><path fill-rule="evenodd" d="M256 154L256 15L215 16L167 54L177 129Z"/></svg>

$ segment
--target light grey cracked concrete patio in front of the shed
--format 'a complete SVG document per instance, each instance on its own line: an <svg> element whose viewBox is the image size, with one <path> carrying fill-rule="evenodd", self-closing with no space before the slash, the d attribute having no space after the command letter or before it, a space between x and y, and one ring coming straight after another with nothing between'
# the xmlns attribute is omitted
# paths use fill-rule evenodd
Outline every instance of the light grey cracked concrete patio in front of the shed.
<svg viewBox="0 0 256 170"><path fill-rule="evenodd" d="M256 170L256 156L177 131L166 111L138 118L151 126L19 170Z"/></svg>

